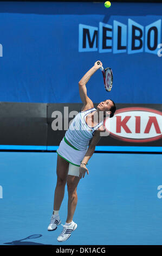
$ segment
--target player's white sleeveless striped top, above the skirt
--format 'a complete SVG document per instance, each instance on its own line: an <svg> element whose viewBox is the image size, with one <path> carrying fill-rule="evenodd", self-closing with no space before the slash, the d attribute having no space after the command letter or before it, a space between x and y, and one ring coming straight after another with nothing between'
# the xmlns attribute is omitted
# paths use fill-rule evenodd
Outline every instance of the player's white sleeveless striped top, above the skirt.
<svg viewBox="0 0 162 256"><path fill-rule="evenodd" d="M69 126L68 131L65 133L65 138L78 150L85 150L88 148L89 141L93 137L93 133L102 124L101 121L98 125L90 127L86 123L86 117L89 113L96 111L95 108L79 112Z"/></svg>

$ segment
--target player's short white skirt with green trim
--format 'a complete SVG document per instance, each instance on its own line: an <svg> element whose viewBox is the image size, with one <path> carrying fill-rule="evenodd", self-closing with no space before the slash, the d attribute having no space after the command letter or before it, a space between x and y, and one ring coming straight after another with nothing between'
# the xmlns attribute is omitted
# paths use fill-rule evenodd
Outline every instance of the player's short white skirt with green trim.
<svg viewBox="0 0 162 256"><path fill-rule="evenodd" d="M83 157L86 155L86 150L76 150L68 145L64 138L62 139L59 149L57 149L57 154L61 156L64 160L73 164L74 166L80 167L80 163L83 160ZM77 168L78 169L78 168Z"/></svg>

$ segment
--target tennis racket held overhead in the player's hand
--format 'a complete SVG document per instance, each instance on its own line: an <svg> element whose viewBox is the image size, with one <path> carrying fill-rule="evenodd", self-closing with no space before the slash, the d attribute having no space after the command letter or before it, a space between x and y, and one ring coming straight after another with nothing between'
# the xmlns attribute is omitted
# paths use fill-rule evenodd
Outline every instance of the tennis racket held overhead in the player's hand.
<svg viewBox="0 0 162 256"><path fill-rule="evenodd" d="M97 64L100 65L100 62L97 62ZM101 66L100 70L102 71L105 90L110 92L113 86L113 71L111 68L103 69L103 66Z"/></svg>

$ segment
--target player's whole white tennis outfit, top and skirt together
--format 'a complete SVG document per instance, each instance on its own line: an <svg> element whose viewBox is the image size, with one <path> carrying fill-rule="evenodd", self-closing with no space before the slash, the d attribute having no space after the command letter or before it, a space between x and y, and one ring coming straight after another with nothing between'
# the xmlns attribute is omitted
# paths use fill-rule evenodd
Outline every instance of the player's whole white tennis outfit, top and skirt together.
<svg viewBox="0 0 162 256"><path fill-rule="evenodd" d="M80 166L80 163L87 152L89 141L92 139L95 130L103 124L103 121L101 121L94 127L87 125L86 117L93 111L96 111L96 109L91 108L86 111L81 111L75 116L60 143L59 149L57 149L57 154L59 156L77 167Z"/></svg>

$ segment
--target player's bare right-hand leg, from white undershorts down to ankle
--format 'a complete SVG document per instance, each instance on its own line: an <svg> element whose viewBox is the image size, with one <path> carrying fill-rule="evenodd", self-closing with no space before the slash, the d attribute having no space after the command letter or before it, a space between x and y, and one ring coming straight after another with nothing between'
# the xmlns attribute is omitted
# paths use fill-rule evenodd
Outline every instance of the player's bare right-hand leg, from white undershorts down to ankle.
<svg viewBox="0 0 162 256"><path fill-rule="evenodd" d="M68 188L68 216L67 223L73 221L74 212L77 205L77 185L80 178L77 176L68 175L67 176L67 188Z"/></svg>

